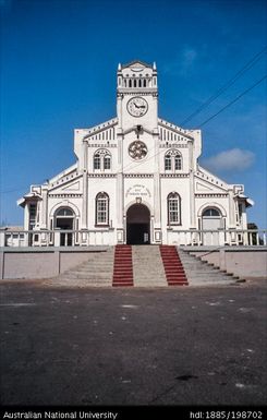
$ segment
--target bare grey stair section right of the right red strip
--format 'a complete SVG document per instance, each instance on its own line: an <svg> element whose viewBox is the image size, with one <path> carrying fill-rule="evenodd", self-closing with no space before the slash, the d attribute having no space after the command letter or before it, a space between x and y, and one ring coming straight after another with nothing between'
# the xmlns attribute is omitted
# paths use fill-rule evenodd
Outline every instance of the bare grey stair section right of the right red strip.
<svg viewBox="0 0 267 420"><path fill-rule="evenodd" d="M239 279L231 273L190 254L190 251L179 249L178 252L191 286L233 285Z"/></svg>

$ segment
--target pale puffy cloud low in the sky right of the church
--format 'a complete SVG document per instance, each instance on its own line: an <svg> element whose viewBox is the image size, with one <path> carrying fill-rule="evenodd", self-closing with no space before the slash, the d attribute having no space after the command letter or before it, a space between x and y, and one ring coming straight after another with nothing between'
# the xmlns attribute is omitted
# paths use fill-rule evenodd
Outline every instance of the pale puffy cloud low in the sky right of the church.
<svg viewBox="0 0 267 420"><path fill-rule="evenodd" d="M243 171L248 169L254 160L255 154L253 152L231 148L203 159L203 166L214 171Z"/></svg>

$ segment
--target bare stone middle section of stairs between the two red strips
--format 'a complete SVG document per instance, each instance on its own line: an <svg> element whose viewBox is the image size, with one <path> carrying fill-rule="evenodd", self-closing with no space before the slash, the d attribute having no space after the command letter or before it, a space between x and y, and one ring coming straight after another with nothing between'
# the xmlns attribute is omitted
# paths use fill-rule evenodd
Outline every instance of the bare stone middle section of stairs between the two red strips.
<svg viewBox="0 0 267 420"><path fill-rule="evenodd" d="M134 286L167 287L158 245L133 245Z"/></svg>

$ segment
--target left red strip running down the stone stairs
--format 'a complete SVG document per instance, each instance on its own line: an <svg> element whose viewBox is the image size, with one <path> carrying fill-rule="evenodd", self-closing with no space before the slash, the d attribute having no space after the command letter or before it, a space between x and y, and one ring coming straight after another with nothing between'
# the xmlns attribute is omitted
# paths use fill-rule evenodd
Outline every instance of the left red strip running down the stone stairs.
<svg viewBox="0 0 267 420"><path fill-rule="evenodd" d="M133 286L133 260L131 245L116 245L112 286Z"/></svg>

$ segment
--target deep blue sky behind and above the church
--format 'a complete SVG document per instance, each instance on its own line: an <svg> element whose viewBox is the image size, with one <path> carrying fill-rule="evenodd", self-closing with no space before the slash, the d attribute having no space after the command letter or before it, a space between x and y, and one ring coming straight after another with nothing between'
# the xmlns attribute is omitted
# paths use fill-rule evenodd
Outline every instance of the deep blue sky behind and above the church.
<svg viewBox="0 0 267 420"><path fill-rule="evenodd" d="M159 115L182 122L266 47L262 0L0 0L1 215L75 163L73 130L116 116L119 62L156 61ZM266 75L266 53L183 128L209 117ZM266 80L202 127L201 164L255 201L266 220Z"/></svg>

